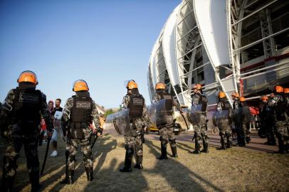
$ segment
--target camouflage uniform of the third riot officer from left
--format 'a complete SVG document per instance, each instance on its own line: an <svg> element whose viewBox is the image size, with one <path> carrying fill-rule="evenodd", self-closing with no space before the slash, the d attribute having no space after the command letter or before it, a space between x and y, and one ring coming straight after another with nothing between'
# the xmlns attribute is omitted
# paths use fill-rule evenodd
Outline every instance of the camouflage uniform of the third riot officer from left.
<svg viewBox="0 0 289 192"><path fill-rule="evenodd" d="M141 96L141 95L140 95ZM127 94L122 99L122 108L130 108L130 101L132 95ZM141 96L142 97L142 96ZM130 132L125 134L125 149L126 149L126 157L129 158L131 164L131 158L135 151L135 160L136 166L135 168L139 168L142 166L142 158L143 158L143 148L142 148L142 129L147 126L147 107L145 105L145 101L143 99L142 104L142 117L130 117ZM127 162L127 161L126 161ZM125 163L125 167L130 167L130 165Z"/></svg>

